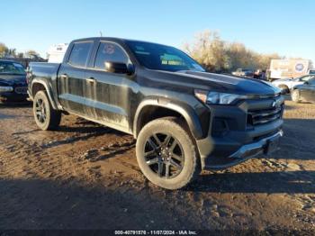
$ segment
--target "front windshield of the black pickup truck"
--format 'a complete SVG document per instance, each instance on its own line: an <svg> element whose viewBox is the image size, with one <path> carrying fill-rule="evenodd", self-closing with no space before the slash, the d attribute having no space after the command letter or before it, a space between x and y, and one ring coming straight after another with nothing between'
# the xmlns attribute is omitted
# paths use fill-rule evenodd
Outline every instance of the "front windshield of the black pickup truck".
<svg viewBox="0 0 315 236"><path fill-rule="evenodd" d="M166 71L204 71L198 62L173 47L142 41L127 41L127 44L139 63L146 68Z"/></svg>

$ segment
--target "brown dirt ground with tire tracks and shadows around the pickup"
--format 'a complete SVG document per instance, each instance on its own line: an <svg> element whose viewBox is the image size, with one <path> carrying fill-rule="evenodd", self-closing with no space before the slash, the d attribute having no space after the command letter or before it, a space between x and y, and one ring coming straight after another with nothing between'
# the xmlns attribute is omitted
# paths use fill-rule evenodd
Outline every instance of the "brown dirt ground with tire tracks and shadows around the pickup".
<svg viewBox="0 0 315 236"><path fill-rule="evenodd" d="M286 101L272 157L166 191L142 176L130 135L76 116L42 132L0 104L0 229L315 230L315 104ZM311 232L312 230L312 232Z"/></svg>

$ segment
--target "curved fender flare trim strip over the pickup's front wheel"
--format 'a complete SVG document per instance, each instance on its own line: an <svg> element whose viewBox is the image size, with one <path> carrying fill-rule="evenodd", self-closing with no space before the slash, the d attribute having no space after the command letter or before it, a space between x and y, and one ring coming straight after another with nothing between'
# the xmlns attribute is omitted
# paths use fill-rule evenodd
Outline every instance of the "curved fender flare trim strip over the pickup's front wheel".
<svg viewBox="0 0 315 236"><path fill-rule="evenodd" d="M196 140L202 139L202 125L200 123L198 115L193 111L193 108L188 104L174 103L166 98L147 99L139 104L133 121L133 135L135 139L138 137L139 134L139 117L146 106L164 107L180 113L188 124L190 131L193 133L193 137Z"/></svg>

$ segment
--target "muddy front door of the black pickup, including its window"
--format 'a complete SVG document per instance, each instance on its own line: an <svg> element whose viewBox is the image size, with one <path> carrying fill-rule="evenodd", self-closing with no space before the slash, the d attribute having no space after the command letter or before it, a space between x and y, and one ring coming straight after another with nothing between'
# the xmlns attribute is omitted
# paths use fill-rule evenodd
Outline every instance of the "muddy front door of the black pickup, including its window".
<svg viewBox="0 0 315 236"><path fill-rule="evenodd" d="M116 42L100 41L93 68L88 72L86 91L95 120L123 132L130 132L130 93L135 82L125 74L105 71L105 62L131 63L128 54Z"/></svg>

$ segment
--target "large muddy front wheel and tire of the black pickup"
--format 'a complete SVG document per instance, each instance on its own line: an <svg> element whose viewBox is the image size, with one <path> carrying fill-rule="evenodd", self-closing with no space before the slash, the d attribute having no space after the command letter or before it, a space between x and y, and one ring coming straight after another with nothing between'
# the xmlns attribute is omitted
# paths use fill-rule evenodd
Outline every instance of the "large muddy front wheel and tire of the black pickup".
<svg viewBox="0 0 315 236"><path fill-rule="evenodd" d="M177 118L161 118L139 132L139 168L153 184L179 189L200 174L200 159L192 135Z"/></svg>

